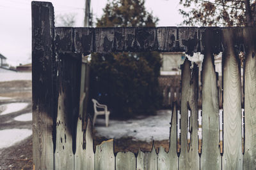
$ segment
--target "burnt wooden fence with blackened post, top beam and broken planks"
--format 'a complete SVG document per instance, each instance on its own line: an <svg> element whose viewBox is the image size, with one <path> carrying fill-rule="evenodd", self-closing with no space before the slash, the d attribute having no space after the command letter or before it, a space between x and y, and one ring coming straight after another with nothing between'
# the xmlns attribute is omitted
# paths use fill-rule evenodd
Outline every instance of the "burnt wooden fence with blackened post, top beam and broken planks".
<svg viewBox="0 0 256 170"><path fill-rule="evenodd" d="M54 27L51 3L32 2L33 165L35 169L256 169L255 27ZM185 51L204 54L202 154L198 154L198 67L185 60L181 76L180 153L173 105L170 149L113 153L113 140L93 152L86 115L91 52ZM244 153L241 73L244 60ZM223 52L223 155L220 154L218 88L214 53ZM188 121L188 111L191 113ZM191 133L188 145L188 129Z"/></svg>

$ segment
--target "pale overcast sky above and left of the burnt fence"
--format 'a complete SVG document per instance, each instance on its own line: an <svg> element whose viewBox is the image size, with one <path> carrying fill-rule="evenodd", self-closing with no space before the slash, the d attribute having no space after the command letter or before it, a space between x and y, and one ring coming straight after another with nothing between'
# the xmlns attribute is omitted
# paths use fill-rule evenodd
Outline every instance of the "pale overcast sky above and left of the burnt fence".
<svg viewBox="0 0 256 170"><path fill-rule="evenodd" d="M85 0L52 0L55 16L76 15L76 27L83 27ZM108 0L91 0L93 17L99 18ZM31 0L0 0L0 53L8 64L31 62ZM182 22L179 0L145 0L148 11L159 18L157 26L177 26Z"/></svg>

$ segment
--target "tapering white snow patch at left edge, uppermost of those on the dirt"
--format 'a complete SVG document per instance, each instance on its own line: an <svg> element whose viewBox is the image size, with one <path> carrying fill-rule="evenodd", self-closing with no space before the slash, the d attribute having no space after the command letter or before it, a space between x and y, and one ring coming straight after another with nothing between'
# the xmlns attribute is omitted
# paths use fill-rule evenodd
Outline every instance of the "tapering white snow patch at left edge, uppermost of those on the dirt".
<svg viewBox="0 0 256 170"><path fill-rule="evenodd" d="M2 104L0 106L0 115L6 115L9 113L13 113L16 111L23 110L28 106L28 103L9 103L9 104ZM3 111L3 112L1 112Z"/></svg>

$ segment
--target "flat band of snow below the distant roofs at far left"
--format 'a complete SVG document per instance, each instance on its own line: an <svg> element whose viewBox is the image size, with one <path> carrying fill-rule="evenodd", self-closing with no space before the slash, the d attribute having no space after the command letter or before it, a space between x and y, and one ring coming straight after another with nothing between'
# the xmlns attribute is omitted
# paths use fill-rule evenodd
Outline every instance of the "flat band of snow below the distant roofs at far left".
<svg viewBox="0 0 256 170"><path fill-rule="evenodd" d="M31 72L0 72L0 81L32 80Z"/></svg>

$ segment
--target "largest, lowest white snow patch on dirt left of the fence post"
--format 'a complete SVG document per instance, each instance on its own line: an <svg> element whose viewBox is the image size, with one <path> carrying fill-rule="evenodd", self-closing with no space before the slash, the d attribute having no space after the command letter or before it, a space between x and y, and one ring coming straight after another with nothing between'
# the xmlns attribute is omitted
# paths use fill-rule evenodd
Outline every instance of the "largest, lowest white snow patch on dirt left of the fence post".
<svg viewBox="0 0 256 170"><path fill-rule="evenodd" d="M14 145L31 136L29 129L5 129L0 131L0 149Z"/></svg>

